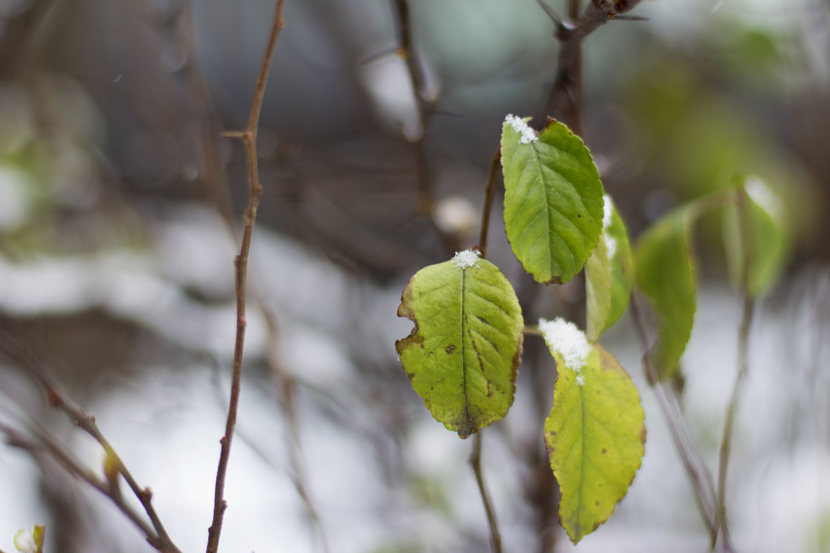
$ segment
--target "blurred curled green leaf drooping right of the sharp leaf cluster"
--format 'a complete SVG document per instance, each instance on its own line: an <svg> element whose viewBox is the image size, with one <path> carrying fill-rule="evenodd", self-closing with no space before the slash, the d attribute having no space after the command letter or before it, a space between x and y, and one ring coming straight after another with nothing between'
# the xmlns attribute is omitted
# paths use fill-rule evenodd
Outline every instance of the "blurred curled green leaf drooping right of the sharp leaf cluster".
<svg viewBox="0 0 830 553"><path fill-rule="evenodd" d="M657 347L651 359L658 381L677 371L695 322L695 263L688 238L694 206L663 216L646 230L635 248L637 287L657 314Z"/></svg>

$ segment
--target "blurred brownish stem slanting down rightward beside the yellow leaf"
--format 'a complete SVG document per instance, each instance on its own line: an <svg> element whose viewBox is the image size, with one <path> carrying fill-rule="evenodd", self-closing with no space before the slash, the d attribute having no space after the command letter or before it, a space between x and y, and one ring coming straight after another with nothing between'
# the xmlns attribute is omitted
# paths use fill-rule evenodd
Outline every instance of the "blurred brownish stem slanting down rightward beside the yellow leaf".
<svg viewBox="0 0 830 553"><path fill-rule="evenodd" d="M631 317L634 329L637 332L637 337L643 348L642 365L646 371L646 377L649 382L654 383L655 395L657 395L657 405L666 420L666 425L671 433L671 439L674 442L675 449L678 456L681 458L683 468L686 471L686 476L691 482L691 487L695 492L695 501L698 510L701 512L706 528L711 532L715 529L715 489L712 486L712 478L706 465L701 461L700 455L696 451L694 441L691 439L691 433L686 426L686 420L683 418L680 405L677 404L676 394L669 386L658 381L657 370L652 365L650 347L648 338L646 336L645 325L642 322L640 309L637 305L637 298L632 294L631 302ZM730 542L727 527L723 526L724 536L724 551L734 551Z"/></svg>

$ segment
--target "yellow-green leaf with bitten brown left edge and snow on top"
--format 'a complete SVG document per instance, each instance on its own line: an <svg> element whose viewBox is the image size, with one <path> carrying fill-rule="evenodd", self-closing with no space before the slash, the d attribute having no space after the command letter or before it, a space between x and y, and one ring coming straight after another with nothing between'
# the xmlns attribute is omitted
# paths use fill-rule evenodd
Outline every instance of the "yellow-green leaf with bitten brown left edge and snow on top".
<svg viewBox="0 0 830 553"><path fill-rule="evenodd" d="M415 328L395 343L424 405L461 438L510 409L524 328L513 287L476 255L461 252L409 280L398 317Z"/></svg>

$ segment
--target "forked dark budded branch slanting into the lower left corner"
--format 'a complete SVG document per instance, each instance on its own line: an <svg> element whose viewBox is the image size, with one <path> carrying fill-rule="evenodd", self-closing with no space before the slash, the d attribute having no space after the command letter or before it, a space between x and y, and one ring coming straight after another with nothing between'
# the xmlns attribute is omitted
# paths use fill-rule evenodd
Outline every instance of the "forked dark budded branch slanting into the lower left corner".
<svg viewBox="0 0 830 553"><path fill-rule="evenodd" d="M133 521L141 531L144 532L144 535L147 536L147 541L151 546L154 546L157 550L163 551L164 553L180 553L178 547L173 544L170 536L168 536L167 531L164 529L164 524L162 524L158 513L153 507L153 492L150 491L150 488L141 488L139 486L139 483L136 482L125 463L115 452L115 449L113 449L104 434L101 433L98 425L95 424L95 417L86 413L79 405L68 398L56 386L55 382L52 381L51 376L48 375L48 373L32 356L32 353L29 352L27 347L25 347L22 342L19 342L17 339L6 334L0 334L0 352L17 364L17 366L21 369L27 371L27 373L32 376L35 381L37 381L37 383L46 392L46 399L49 401L49 405L63 411L79 428L84 430L87 434L90 434L90 436L92 436L92 438L100 444L100 446L104 449L110 464L115 468L115 478L117 478L120 474L125 479L129 489L134 493L135 497L138 497L139 502L141 502L141 506L144 507L144 512L147 513L150 525L152 526L148 526L147 523L139 517L138 513L134 512L132 507L129 507L129 505L124 502L124 499L121 497L120 492L117 491L118 488L115 487L114 482L110 483L112 485L108 485L107 483L102 482L100 478L96 477L94 474L81 468L79 463L76 463L69 456L69 454L66 454L63 449L54 444L50 439L46 439L44 436L41 436L40 441L43 447L40 448L37 447L37 444L32 443L31 440L23 438L22 434L17 433L7 425L2 425L0 429L2 429L4 434L7 434L11 440L10 444L26 449L30 452L35 452L37 449L46 449L46 451L53 458L55 458L61 466L66 468L69 473L73 474L77 478L81 478L86 483L89 483L93 488L104 493L105 496L110 497L110 500L112 500L112 502L119 507L121 512L124 512L125 515Z"/></svg>

